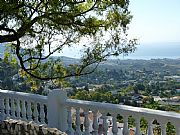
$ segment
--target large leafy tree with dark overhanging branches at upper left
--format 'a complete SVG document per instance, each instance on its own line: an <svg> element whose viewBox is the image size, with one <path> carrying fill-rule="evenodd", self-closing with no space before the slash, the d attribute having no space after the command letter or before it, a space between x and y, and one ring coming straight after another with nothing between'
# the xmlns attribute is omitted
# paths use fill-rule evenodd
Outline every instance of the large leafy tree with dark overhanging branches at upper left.
<svg viewBox="0 0 180 135"><path fill-rule="evenodd" d="M10 43L22 72L41 80L94 71L110 56L133 52L127 39L129 0L1 0L0 43ZM79 64L50 59L83 46ZM88 68L92 65L92 68Z"/></svg>

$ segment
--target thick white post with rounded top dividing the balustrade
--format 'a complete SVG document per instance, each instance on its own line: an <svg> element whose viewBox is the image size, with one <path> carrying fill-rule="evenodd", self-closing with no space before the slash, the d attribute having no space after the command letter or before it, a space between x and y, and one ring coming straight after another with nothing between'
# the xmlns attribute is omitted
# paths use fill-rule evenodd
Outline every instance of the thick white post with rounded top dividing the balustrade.
<svg viewBox="0 0 180 135"><path fill-rule="evenodd" d="M48 126L67 130L67 109L65 102L67 93L61 89L54 89L48 94Z"/></svg>

